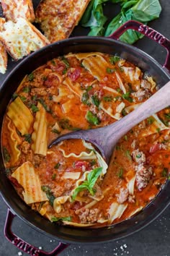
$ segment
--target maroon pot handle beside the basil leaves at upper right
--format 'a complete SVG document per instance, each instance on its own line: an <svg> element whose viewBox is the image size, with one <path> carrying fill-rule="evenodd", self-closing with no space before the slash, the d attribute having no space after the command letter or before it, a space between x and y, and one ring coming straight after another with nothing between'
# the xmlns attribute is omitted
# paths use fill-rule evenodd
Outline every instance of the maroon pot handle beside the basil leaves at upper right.
<svg viewBox="0 0 170 256"><path fill-rule="evenodd" d="M143 23L137 22L135 20L129 20L128 22L125 22L121 27L119 27L112 35L109 35L109 38L119 40L120 35L122 33L125 33L126 30L135 30L143 35L146 35L148 38L151 38L152 40L156 41L157 43L161 44L161 46L164 46L167 51L166 61L164 63L163 67L166 67L166 69L170 72L170 40L165 38L164 35L161 35L156 30L153 30L153 28L148 27L147 25L144 25Z"/></svg>

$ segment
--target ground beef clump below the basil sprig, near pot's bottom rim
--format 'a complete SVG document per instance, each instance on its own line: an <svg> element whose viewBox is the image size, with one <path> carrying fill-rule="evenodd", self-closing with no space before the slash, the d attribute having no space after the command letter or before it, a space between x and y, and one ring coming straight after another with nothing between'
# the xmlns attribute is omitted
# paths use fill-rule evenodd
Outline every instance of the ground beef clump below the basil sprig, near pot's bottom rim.
<svg viewBox="0 0 170 256"><path fill-rule="evenodd" d="M94 223L99 219L99 215L100 215L100 211L97 208L94 208L94 209L81 208L81 210L79 210L78 213L79 213L78 215L81 223Z"/></svg>

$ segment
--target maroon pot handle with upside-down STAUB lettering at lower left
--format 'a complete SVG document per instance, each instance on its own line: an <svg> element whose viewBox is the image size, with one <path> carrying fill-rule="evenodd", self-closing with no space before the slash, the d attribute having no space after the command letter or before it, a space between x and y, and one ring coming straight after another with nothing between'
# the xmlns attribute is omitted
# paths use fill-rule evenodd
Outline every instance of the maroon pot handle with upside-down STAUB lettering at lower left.
<svg viewBox="0 0 170 256"><path fill-rule="evenodd" d="M56 256L59 255L63 251L63 249L66 249L66 247L68 247L69 244L63 244L62 242L59 242L58 246L53 249L52 252L44 252L41 249L38 249L31 244L28 244L12 232L12 221L14 220L14 217L16 216L12 213L10 209L8 209L4 226L4 235L6 236L6 239L9 240L9 242L14 244L18 249L22 250L22 252L26 252L27 254L32 256Z"/></svg>

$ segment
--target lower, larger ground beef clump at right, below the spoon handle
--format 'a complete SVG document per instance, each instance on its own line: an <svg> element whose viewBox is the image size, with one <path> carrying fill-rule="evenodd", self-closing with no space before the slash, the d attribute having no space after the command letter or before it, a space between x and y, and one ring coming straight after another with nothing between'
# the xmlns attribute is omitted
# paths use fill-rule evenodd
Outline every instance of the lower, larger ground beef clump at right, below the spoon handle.
<svg viewBox="0 0 170 256"><path fill-rule="evenodd" d="M143 163L140 163L138 166L135 166L136 171L136 184L138 190L141 191L148 185L148 182L151 179L153 174L152 167L146 168L143 166Z"/></svg>

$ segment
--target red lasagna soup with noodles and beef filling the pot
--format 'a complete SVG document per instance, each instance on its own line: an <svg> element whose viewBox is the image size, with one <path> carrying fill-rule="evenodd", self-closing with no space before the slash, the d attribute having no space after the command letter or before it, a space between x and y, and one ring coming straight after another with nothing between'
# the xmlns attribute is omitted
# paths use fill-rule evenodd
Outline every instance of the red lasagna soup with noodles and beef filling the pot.
<svg viewBox="0 0 170 256"><path fill-rule="evenodd" d="M102 53L59 56L24 77L4 116L6 174L27 205L63 225L109 226L140 212L169 176L170 108L117 143L107 166L93 145L55 137L103 127L138 108L156 82Z"/></svg>

